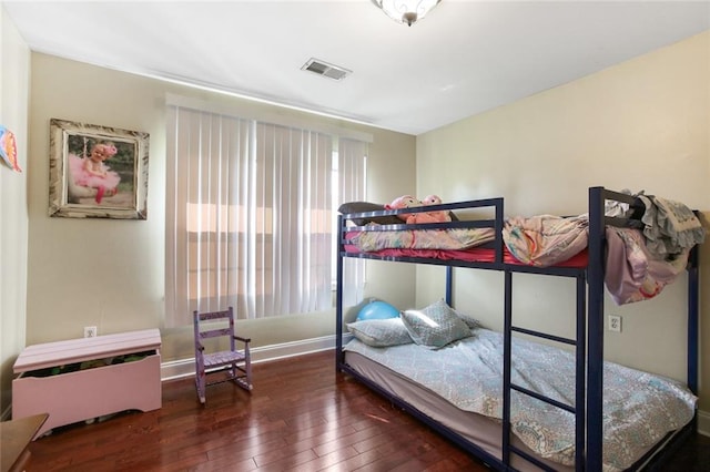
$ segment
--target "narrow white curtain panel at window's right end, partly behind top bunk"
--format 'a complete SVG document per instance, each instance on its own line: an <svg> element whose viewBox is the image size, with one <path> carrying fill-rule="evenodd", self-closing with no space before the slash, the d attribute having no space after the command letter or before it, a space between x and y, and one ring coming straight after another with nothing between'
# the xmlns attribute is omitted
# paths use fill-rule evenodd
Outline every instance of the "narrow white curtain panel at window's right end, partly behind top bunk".
<svg viewBox="0 0 710 472"><path fill-rule="evenodd" d="M365 202L367 196L368 145L362 141L338 140L338 206L346 202ZM354 306L363 300L365 260L345 257L343 260L343 304Z"/></svg>

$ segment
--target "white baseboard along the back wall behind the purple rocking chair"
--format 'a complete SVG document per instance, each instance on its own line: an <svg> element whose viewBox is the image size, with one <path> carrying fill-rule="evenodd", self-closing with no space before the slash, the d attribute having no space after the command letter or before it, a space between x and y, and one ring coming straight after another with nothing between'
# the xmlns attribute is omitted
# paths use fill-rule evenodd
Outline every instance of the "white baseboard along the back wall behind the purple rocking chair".
<svg viewBox="0 0 710 472"><path fill-rule="evenodd" d="M352 335L349 334L343 335L343 342L347 342L351 337ZM323 336L321 338L304 339L302 341L253 348L251 349L252 363L285 359L327 349L335 349L335 336ZM333 357L333 368L335 369L335 355ZM160 374L163 381L192 377L195 374L195 359L189 358L163 362Z"/></svg>

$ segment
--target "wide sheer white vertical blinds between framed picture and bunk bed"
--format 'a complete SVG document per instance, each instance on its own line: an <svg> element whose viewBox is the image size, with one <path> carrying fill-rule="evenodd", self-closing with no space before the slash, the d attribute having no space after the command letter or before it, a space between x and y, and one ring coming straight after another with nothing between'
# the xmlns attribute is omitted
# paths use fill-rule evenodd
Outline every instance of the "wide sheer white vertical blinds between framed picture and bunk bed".
<svg viewBox="0 0 710 472"><path fill-rule="evenodd" d="M168 326L327 309L333 137L168 107Z"/></svg>

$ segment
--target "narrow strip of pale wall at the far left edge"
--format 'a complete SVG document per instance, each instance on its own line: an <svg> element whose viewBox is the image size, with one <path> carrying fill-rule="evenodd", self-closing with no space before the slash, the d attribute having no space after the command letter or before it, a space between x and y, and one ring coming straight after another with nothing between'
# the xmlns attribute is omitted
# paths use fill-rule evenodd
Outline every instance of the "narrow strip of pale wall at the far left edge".
<svg viewBox="0 0 710 472"><path fill-rule="evenodd" d="M0 164L0 413L10 406L12 363L24 347L29 80L30 50L0 6L0 124L16 134L26 170Z"/></svg>

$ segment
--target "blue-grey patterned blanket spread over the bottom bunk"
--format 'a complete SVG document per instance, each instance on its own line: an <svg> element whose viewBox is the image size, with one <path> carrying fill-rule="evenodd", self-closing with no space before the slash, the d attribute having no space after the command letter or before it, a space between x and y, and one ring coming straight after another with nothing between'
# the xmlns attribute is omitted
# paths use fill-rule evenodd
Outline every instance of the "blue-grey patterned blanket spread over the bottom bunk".
<svg viewBox="0 0 710 472"><path fill-rule="evenodd" d="M416 343L371 348L357 339L345 350L388 367L462 410L500 420L503 337L483 328L471 332L438 350ZM574 406L574 353L514 339L514 383ZM693 417L697 398L673 380L605 362L604 384L606 471L629 468L640 451ZM527 447L546 459L574 465L574 414L515 391L510 404L511 430Z"/></svg>

